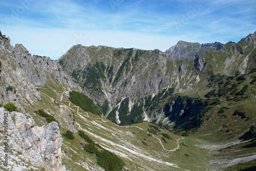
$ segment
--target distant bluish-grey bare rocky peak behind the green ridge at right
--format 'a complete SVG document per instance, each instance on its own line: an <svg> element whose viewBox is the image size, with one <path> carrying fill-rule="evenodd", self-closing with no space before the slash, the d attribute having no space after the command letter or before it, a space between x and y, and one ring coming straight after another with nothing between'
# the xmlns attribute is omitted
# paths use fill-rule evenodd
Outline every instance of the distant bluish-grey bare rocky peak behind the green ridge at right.
<svg viewBox="0 0 256 171"><path fill-rule="evenodd" d="M200 54L219 51L223 46L220 42L200 45L198 42L178 41L175 46L170 47L165 53L172 60L192 60Z"/></svg>

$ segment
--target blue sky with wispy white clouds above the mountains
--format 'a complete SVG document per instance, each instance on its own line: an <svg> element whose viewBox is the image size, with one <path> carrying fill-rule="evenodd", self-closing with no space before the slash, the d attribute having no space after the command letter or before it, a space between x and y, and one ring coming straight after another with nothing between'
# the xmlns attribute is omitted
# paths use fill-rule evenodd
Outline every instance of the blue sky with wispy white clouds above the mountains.
<svg viewBox="0 0 256 171"><path fill-rule="evenodd" d="M57 59L73 45L165 51L179 40L238 42L256 31L256 1L1 1L11 44Z"/></svg>

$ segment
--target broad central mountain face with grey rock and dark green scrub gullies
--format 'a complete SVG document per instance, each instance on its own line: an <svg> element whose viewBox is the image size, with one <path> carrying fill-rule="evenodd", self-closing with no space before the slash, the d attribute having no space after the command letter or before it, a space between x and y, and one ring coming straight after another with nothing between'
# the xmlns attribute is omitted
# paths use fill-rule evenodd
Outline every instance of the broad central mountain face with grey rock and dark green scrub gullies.
<svg viewBox="0 0 256 171"><path fill-rule="evenodd" d="M81 45L72 47L58 59L84 91L101 104L105 99L116 104L126 96L135 99L156 94L170 82L166 60L159 50Z"/></svg>

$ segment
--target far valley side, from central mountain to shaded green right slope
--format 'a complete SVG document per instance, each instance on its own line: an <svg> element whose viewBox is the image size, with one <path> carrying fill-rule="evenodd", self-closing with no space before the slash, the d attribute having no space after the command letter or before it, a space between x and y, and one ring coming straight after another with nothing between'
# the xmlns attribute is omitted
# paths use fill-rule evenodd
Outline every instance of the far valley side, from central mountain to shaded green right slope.
<svg viewBox="0 0 256 171"><path fill-rule="evenodd" d="M74 52L79 60L87 60L79 69L73 65ZM75 78L83 89L102 106L104 116L119 125L151 121L175 134L200 139L204 147L220 143L218 150L225 146L231 153L229 144L244 144L241 137L255 121L255 33L188 61L169 60L158 50L80 45L58 61L67 72L77 71ZM253 160L252 148L242 146L237 150L250 156L248 160L236 154L212 166L226 168L236 164L228 165L231 160ZM217 148L209 149L212 157Z"/></svg>

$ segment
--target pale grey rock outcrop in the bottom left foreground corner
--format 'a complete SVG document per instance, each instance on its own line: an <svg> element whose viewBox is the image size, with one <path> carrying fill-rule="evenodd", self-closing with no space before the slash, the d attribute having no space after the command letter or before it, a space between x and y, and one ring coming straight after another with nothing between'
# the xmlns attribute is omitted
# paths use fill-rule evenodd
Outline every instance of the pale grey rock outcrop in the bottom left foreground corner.
<svg viewBox="0 0 256 171"><path fill-rule="evenodd" d="M26 170L45 167L50 170L65 171L61 165L62 138L58 123L51 122L45 126L36 126L29 114L8 112L0 108L0 124L4 127L4 116L8 115L8 169ZM1 143L6 140L0 135ZM0 147L4 156L4 147ZM0 168L4 163L0 163Z"/></svg>

